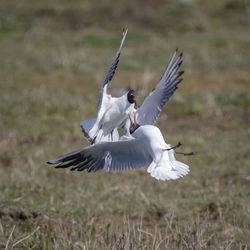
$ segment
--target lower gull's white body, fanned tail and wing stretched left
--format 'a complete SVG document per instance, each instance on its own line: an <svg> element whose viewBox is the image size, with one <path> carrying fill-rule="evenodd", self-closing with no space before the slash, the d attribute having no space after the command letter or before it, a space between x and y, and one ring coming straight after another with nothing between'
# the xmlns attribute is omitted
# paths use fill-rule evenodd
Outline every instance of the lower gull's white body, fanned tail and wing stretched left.
<svg viewBox="0 0 250 250"><path fill-rule="evenodd" d="M188 174L189 166L175 159L175 147L165 143L157 127L137 125L131 133L127 140L100 142L48 163L57 164L56 168L71 167L71 170L86 169L87 172L149 166L148 173L157 180L174 180Z"/></svg>

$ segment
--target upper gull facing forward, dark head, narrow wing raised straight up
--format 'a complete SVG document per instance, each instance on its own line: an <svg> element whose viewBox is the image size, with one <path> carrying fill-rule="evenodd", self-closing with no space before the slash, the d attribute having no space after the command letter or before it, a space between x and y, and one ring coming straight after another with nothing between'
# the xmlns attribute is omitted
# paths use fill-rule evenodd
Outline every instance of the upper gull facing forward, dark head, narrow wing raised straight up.
<svg viewBox="0 0 250 250"><path fill-rule="evenodd" d="M104 80L98 100L96 119L90 119L80 123L84 135L91 143L118 140L119 134L117 128L128 118L136 103L135 91L132 89L121 97L112 97L107 94L107 84L112 80L115 74L126 35L127 30L124 30L120 47L116 52Z"/></svg>

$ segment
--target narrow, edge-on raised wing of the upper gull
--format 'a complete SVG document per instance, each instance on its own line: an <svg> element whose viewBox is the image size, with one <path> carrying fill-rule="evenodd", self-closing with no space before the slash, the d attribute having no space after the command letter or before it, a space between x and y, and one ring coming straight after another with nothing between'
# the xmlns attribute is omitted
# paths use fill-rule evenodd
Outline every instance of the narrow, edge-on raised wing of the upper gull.
<svg viewBox="0 0 250 250"><path fill-rule="evenodd" d="M102 85L102 89L100 91L100 97L99 97L99 100L98 100L98 105L97 105L97 111L100 109L101 107L101 104L102 104L102 98L103 98L103 89L104 87L112 80L114 74L115 74L115 70L117 68L117 65L119 63L119 57L120 57L120 53L121 53L121 48L122 48L122 45L124 43L124 40L126 38L126 35L127 35L127 32L128 30L123 30L123 34L122 34L122 40L121 40L121 44L120 44L120 47L118 49L118 51L116 52L115 54L115 57L110 65L110 68L108 70L108 73L105 77L105 80L103 82L103 85Z"/></svg>

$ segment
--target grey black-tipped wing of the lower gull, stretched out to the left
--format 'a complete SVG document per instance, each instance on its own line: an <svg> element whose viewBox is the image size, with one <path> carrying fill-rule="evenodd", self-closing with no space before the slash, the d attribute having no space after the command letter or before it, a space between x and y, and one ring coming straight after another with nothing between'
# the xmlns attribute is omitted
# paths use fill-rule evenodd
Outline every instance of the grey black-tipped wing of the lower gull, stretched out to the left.
<svg viewBox="0 0 250 250"><path fill-rule="evenodd" d="M48 164L56 168L71 167L71 170L96 172L102 169L122 171L150 165L152 157L143 148L139 139L117 142L101 142L61 156Z"/></svg>

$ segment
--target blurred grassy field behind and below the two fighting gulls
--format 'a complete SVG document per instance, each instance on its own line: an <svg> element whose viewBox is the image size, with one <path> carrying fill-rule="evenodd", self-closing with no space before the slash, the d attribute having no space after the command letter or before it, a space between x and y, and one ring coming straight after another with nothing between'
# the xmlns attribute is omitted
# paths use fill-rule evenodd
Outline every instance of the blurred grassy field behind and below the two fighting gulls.
<svg viewBox="0 0 250 250"><path fill-rule="evenodd" d="M139 105L174 50L184 81L157 126L190 174L161 182L57 170L87 146L79 123L99 90L133 87ZM177 249L249 246L250 3L247 0L2 0L0 248Z"/></svg>

